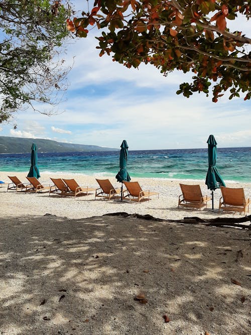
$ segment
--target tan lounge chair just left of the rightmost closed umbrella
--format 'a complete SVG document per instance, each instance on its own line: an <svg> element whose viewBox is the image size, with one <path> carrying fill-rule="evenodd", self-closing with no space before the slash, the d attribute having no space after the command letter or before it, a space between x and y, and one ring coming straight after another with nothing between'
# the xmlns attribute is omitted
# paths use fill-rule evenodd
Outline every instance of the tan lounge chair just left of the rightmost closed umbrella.
<svg viewBox="0 0 251 335"><path fill-rule="evenodd" d="M194 207L200 210L201 207L207 207L207 202L212 199L208 195L202 195L200 185L180 184L180 188L182 194L179 196L178 208L179 206L184 206Z"/></svg>

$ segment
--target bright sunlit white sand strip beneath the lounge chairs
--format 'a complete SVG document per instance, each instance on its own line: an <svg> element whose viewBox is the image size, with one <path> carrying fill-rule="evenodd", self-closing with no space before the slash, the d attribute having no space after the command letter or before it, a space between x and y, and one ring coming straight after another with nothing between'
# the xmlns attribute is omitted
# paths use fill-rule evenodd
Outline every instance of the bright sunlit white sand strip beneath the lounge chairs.
<svg viewBox="0 0 251 335"><path fill-rule="evenodd" d="M5 182L11 181L8 178L10 176L17 176L22 182L27 181L27 173L16 173L16 172L0 172L0 180ZM42 184L53 183L50 180L52 178L75 178L81 186L97 187L98 184L96 178L105 179L108 178L115 188L121 186L115 178L104 177L104 176L85 176L85 175L61 175L61 174L45 174L41 173L39 179ZM136 179L132 179L134 181ZM178 209L178 196L181 194L179 182L184 184L200 184L202 194L210 195L210 190L207 189L205 182L203 181L178 181L178 180L167 180L167 179L152 179L152 178L138 178L137 179L145 190L151 190L159 192L158 196L153 196L150 201L143 201L137 203L134 201L112 200L107 201L106 199L97 198L94 201L95 192L88 196L81 196L78 198L74 197L59 197L57 195L48 196L45 194L33 194L24 192L13 192L9 191L5 193L6 186L0 188L1 192L1 203L2 203L2 215L19 215L19 214L34 214L44 215L46 213L55 214L58 216L66 216L68 218L83 218L94 215L103 215L110 212L128 212L128 213L139 213L139 214L151 214L154 217L164 219L178 219L184 216L196 216L200 215L203 217L215 217L218 216L218 203L221 192L219 189L214 191L214 211L211 210L211 202L209 202L208 208L203 210L195 209ZM251 197L251 184L239 184L239 183L228 183L229 187L244 187L245 196ZM221 216L233 216L233 213L223 214ZM237 217L239 214L234 214Z"/></svg>

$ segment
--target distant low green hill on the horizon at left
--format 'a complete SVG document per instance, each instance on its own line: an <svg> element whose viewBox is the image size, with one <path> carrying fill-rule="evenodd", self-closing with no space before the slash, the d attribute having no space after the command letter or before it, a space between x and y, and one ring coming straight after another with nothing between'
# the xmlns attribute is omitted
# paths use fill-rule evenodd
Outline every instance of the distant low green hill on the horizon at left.
<svg viewBox="0 0 251 335"><path fill-rule="evenodd" d="M36 143L39 152L77 152L77 151L117 151L115 148L103 148L94 145L62 143L44 139L24 139L0 136L0 154L18 154L31 152L32 143Z"/></svg>

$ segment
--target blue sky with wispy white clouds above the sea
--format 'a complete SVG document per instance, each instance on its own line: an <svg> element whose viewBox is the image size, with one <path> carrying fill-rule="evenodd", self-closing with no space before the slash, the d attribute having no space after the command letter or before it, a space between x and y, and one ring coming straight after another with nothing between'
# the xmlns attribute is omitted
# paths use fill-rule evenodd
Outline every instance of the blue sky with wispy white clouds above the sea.
<svg viewBox="0 0 251 335"><path fill-rule="evenodd" d="M75 8L83 3L75 1ZM241 27L251 35L243 20ZM145 64L128 69L111 57L99 57L94 35L67 44L63 58L72 69L56 115L18 111L13 121L18 128L2 124L0 136L111 148L127 140L129 150L154 150L207 148L213 134L221 148L251 146L251 101L244 101L244 95L232 100L224 95L217 103L202 93L189 99L177 95L179 84L189 82L190 74L174 71L164 77Z"/></svg>

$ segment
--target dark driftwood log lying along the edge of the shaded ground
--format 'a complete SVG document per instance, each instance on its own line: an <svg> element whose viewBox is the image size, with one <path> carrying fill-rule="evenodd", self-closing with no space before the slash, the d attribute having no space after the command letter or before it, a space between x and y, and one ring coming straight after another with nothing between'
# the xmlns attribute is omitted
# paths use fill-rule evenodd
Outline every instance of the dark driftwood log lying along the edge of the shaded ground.
<svg viewBox="0 0 251 335"><path fill-rule="evenodd" d="M183 219L174 220L174 219L162 219L157 218L152 215L146 214L129 214L127 212L115 212L115 213L108 213L104 215L119 215L124 217L137 217L137 218L143 218L145 220L152 220L152 221L166 221L166 222L177 222L179 224L199 224L204 226L214 226L214 227L237 227L237 228L243 228L243 229L251 229L251 215L245 215L243 217L216 217L216 218L200 218L198 216L190 216L190 217L184 217ZM103 215L103 216L104 216ZM242 222L249 221L249 225L241 225Z"/></svg>

